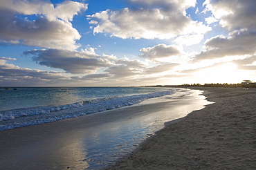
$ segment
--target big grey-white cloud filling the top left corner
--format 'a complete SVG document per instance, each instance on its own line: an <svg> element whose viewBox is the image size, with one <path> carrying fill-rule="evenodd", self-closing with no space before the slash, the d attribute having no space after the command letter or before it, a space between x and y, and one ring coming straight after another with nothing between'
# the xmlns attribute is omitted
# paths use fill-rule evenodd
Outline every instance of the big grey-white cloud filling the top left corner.
<svg viewBox="0 0 256 170"><path fill-rule="evenodd" d="M45 1L0 1L0 40L10 44L74 50L80 46L75 41L81 36L70 21L86 9L86 4L73 1L64 1L55 8ZM30 20L31 16L37 19Z"/></svg>

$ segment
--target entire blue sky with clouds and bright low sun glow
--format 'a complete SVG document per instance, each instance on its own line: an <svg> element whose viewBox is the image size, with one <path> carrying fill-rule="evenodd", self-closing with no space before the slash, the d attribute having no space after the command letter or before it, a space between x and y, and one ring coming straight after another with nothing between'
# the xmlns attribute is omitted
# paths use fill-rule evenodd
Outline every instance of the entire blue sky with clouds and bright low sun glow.
<svg viewBox="0 0 256 170"><path fill-rule="evenodd" d="M256 82L255 0L1 0L0 86Z"/></svg>

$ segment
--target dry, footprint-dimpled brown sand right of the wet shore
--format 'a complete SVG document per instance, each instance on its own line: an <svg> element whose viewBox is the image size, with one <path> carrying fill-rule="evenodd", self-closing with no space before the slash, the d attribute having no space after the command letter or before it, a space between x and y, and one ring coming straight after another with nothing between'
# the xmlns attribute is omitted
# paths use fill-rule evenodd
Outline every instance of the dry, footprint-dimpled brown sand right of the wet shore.
<svg viewBox="0 0 256 170"><path fill-rule="evenodd" d="M256 89L198 88L215 102L109 169L256 169Z"/></svg>

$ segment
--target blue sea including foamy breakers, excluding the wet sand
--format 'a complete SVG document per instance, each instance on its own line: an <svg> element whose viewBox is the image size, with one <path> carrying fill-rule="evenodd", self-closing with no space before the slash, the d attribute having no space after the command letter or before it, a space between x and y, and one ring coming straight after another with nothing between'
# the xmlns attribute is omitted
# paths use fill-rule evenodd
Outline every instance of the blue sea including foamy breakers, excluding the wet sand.
<svg viewBox="0 0 256 170"><path fill-rule="evenodd" d="M172 88L146 87L0 89L0 131L131 106L176 92Z"/></svg>

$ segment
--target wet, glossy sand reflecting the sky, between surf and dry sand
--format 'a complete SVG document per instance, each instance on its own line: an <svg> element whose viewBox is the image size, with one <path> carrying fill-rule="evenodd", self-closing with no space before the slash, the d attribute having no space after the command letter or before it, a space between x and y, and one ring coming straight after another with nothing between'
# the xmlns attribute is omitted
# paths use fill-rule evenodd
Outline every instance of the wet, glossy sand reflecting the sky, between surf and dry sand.
<svg viewBox="0 0 256 170"><path fill-rule="evenodd" d="M102 169L113 165L162 129L163 122L203 108L208 102L199 93L180 91L134 106L0 131L1 168Z"/></svg>

